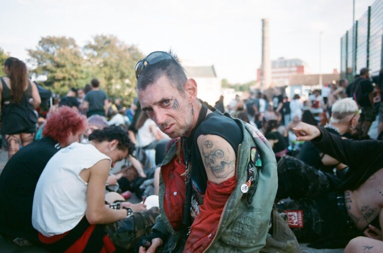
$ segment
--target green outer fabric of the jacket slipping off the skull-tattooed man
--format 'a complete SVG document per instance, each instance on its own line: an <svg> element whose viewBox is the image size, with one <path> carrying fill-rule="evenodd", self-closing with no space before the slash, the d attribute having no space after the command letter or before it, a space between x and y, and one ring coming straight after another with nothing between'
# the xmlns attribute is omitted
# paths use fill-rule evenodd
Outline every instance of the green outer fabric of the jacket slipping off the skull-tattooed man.
<svg viewBox="0 0 383 253"><path fill-rule="evenodd" d="M229 114L225 114L231 117ZM237 149L236 181L237 185L227 200L218 223L218 230L205 248L205 252L240 253L259 252L266 243L267 233L270 229L270 214L278 187L277 164L270 144L258 129L239 119L242 128L243 141ZM254 166L251 161L251 150L256 147L261 157L261 165ZM162 165L168 164L176 156L176 145L168 152ZM254 181L246 193L241 186L248 181L248 168L254 168ZM178 239L183 235L174 231L169 219L162 208L164 203L165 184L160 173L160 213L157 217L155 229L171 233L172 239L168 242L165 252L172 252ZM166 232L168 231L168 232ZM270 236L270 235L269 235Z"/></svg>

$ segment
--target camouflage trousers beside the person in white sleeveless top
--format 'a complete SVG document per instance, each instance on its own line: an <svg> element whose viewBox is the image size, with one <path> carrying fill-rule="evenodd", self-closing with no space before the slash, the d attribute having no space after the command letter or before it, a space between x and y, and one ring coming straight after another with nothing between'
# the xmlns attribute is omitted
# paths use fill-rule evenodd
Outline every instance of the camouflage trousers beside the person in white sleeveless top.
<svg viewBox="0 0 383 253"><path fill-rule="evenodd" d="M106 231L115 246L131 252L142 236L152 232L152 227L159 214L158 207L135 212L123 220L106 225Z"/></svg>

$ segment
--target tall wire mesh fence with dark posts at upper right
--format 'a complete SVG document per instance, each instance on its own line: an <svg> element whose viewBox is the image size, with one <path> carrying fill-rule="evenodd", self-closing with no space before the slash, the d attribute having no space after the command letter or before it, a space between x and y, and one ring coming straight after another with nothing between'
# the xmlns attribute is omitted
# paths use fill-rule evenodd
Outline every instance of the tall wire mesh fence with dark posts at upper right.
<svg viewBox="0 0 383 253"><path fill-rule="evenodd" d="M353 80L360 69L378 75L383 68L383 0L376 0L341 38L341 78Z"/></svg>

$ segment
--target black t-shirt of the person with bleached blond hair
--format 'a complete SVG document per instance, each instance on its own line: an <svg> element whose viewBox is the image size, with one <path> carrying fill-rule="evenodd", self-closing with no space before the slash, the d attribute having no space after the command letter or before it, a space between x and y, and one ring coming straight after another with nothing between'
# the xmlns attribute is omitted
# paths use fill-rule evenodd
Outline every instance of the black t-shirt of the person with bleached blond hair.
<svg viewBox="0 0 383 253"><path fill-rule="evenodd" d="M339 133L334 129L325 129L327 130L327 132L339 136ZM312 142L308 141L302 145L301 150L299 151L298 159L304 162L305 164L314 167L315 169L320 169L324 172L333 173L335 165L324 165L322 163L321 154L323 153L320 152Z"/></svg>

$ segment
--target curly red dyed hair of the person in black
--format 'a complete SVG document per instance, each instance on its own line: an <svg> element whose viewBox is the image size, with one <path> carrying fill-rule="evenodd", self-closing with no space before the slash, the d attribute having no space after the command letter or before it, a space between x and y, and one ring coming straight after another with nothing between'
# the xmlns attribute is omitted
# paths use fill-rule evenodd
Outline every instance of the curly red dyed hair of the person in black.
<svg viewBox="0 0 383 253"><path fill-rule="evenodd" d="M46 120L43 136L63 144L70 134L76 134L86 129L86 117L81 115L77 108L61 106Z"/></svg>

